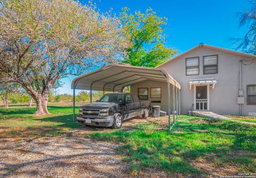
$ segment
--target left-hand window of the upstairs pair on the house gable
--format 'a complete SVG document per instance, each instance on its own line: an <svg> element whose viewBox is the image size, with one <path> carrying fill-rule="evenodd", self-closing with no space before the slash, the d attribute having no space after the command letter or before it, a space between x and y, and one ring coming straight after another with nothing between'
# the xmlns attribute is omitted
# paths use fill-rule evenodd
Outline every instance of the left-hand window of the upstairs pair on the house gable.
<svg viewBox="0 0 256 178"><path fill-rule="evenodd" d="M199 57L186 58L186 75L199 75Z"/></svg>

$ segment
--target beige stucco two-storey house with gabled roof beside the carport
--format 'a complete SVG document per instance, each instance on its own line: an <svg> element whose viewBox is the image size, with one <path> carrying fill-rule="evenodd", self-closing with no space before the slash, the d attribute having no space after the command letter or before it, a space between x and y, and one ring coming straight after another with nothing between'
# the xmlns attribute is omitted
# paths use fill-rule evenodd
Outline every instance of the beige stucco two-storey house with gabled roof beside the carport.
<svg viewBox="0 0 256 178"><path fill-rule="evenodd" d="M256 56L199 44L159 66L181 86L180 108L218 114L256 115ZM141 100L167 112L167 84L144 80L131 84ZM170 91L172 100L172 88ZM173 105L171 103L171 105Z"/></svg>

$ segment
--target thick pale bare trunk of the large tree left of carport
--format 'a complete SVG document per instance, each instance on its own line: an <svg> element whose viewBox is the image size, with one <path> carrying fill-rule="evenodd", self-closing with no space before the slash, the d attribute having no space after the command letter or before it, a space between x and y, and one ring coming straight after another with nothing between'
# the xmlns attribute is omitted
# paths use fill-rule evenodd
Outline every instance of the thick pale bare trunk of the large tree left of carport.
<svg viewBox="0 0 256 178"><path fill-rule="evenodd" d="M36 102L36 112L35 115L45 115L50 114L47 110L47 102L49 99L49 94L37 94L34 100Z"/></svg>

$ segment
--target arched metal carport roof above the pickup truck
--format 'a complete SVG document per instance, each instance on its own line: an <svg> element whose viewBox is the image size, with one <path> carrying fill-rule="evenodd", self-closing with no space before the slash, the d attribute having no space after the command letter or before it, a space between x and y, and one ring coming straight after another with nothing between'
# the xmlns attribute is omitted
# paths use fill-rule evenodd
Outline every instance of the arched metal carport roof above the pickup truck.
<svg viewBox="0 0 256 178"><path fill-rule="evenodd" d="M180 84L163 69L111 64L75 78L71 89L121 91L125 86L144 80L170 82L181 89Z"/></svg>

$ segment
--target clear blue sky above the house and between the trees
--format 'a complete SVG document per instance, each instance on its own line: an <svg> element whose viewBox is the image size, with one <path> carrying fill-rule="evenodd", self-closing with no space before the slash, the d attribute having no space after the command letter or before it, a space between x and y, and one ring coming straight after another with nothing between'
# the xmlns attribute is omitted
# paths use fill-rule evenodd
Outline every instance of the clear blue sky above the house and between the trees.
<svg viewBox="0 0 256 178"><path fill-rule="evenodd" d="M87 1L80 1L87 3ZM179 54L204 43L222 48L235 49L230 38L242 38L246 27L238 27L237 12L250 6L247 0L94 0L102 12L113 9L118 14L122 7L130 12L145 12L151 7L159 16L165 16L167 26L166 46L178 49ZM72 94L70 83L75 77L62 79L60 94Z"/></svg>

